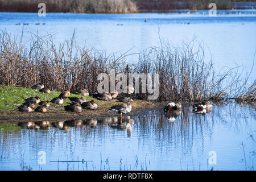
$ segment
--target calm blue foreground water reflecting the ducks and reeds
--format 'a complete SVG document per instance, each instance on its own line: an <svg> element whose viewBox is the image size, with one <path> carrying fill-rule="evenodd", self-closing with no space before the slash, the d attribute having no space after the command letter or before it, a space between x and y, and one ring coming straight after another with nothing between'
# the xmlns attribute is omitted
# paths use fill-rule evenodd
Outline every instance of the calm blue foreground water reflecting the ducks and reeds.
<svg viewBox="0 0 256 182"><path fill-rule="evenodd" d="M117 118L18 123L19 130L0 133L0 170L255 169L255 106L214 104L197 114L183 105L169 117L153 109L122 124ZM39 151L46 152L45 165L38 164ZM207 164L210 151L217 164ZM58 160L87 162L52 162Z"/></svg>

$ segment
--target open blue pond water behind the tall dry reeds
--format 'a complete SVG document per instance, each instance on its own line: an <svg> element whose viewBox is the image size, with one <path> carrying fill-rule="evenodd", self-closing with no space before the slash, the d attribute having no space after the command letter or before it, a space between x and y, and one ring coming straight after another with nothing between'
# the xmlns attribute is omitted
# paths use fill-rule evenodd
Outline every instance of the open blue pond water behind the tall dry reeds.
<svg viewBox="0 0 256 182"><path fill-rule="evenodd" d="M198 42L204 43L205 60L213 59L217 70L241 65L250 72L256 48L256 10L218 10L216 17L209 16L208 11L184 12L118 15L47 13L46 17L39 17L36 13L0 13L0 29L13 36L23 32L25 44L30 43L31 33L40 36L51 34L55 43L63 43L75 31L79 46L86 43L87 47L118 54L129 49L128 53L138 53L158 46L159 35L178 46L196 37ZM22 26L22 23L28 23L28 26ZM127 56L126 60L135 62L138 55ZM254 67L249 81L253 82L255 76Z"/></svg>

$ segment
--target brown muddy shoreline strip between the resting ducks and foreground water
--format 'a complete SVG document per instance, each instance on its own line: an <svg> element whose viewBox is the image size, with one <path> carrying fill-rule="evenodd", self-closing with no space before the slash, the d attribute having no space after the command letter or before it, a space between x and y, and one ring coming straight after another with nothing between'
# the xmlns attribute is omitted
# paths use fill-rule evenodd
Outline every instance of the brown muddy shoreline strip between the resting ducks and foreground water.
<svg viewBox="0 0 256 182"><path fill-rule="evenodd" d="M143 111L163 107L162 103L153 103L149 101L135 101L132 106L131 113L126 115L134 115ZM71 111L65 111L63 106L49 107L47 113L38 113L32 111L21 112L16 110L0 110L0 122L11 121L56 121L57 119L80 119L80 118L93 118L93 117L119 117L118 113L108 112L106 109L86 110L81 113L74 113Z"/></svg>

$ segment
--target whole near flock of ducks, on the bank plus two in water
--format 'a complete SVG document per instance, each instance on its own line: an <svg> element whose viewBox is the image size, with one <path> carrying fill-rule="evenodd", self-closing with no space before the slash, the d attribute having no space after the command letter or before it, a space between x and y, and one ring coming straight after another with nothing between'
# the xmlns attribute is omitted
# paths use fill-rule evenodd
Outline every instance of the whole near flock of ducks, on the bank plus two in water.
<svg viewBox="0 0 256 182"><path fill-rule="evenodd" d="M36 84L31 87L32 89L38 89L39 92L44 93L51 93L51 90L49 88L44 88L43 84ZM127 96L118 97L117 90L113 90L112 93L106 92L106 93L97 93L92 92L89 94L89 92L86 89L78 89L78 90L64 90L60 93L59 97L53 98L51 101L40 101L40 98L38 96L26 98L24 104L22 106L19 106L18 109L20 111L27 111L31 112L32 109L35 109L37 112L46 113L47 107L50 106L50 102L53 104L64 104L64 99L68 98L71 101L71 104L64 106L65 111L73 111L76 113L81 113L83 109L91 109L96 110L98 105L94 100L92 101L86 101L84 97L69 97L71 93L79 94L81 96L92 96L93 98L97 98L98 100L104 100L104 101L111 101L113 99L117 99L120 102L126 102L126 104L119 104L110 107L108 111L113 111L115 113L119 113L121 115L121 119L123 119L123 114L130 113L132 106L131 102L133 102L133 99ZM134 87L132 85L127 85L127 94L131 95L134 93ZM38 107L35 105L39 104ZM199 104L193 105L193 111L195 113L204 114L206 113L206 109L210 109L212 107L212 104L210 101L204 101ZM168 119L172 118L172 115L175 113L179 113L179 109L181 109L180 102L170 102L164 107L164 111L167 113Z"/></svg>

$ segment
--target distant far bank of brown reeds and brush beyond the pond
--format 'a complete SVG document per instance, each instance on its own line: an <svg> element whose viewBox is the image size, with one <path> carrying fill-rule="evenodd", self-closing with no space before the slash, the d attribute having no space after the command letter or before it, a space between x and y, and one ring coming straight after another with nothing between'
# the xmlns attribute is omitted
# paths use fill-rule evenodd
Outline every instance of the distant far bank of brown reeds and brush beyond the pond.
<svg viewBox="0 0 256 182"><path fill-rule="evenodd" d="M0 0L0 11L37 13L39 3L46 3L46 12L64 13L137 13L168 12L177 9L209 10L209 3L216 3L218 10L233 9L232 2L242 0Z"/></svg>

